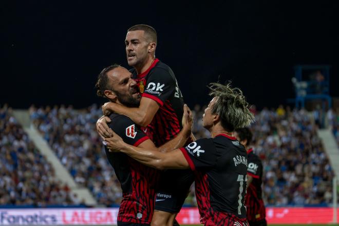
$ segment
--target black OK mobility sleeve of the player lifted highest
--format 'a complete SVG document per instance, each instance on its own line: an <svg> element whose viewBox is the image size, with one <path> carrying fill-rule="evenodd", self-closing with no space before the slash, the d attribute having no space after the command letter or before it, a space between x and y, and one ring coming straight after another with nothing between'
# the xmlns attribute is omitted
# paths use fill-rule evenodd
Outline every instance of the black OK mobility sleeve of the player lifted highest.
<svg viewBox="0 0 339 226"><path fill-rule="evenodd" d="M176 89L176 83L168 71L163 68L153 68L149 72L143 97L155 100L160 106L170 98Z"/></svg>

